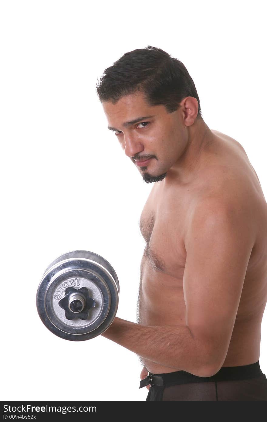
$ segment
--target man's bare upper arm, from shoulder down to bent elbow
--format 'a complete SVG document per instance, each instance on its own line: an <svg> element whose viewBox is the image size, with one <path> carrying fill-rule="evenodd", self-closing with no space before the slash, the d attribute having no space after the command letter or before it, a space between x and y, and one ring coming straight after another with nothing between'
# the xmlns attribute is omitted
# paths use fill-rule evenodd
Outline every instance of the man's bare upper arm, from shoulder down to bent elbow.
<svg viewBox="0 0 267 422"><path fill-rule="evenodd" d="M205 199L185 236L183 292L186 325L216 373L227 355L254 231L247 212L226 200Z"/></svg>

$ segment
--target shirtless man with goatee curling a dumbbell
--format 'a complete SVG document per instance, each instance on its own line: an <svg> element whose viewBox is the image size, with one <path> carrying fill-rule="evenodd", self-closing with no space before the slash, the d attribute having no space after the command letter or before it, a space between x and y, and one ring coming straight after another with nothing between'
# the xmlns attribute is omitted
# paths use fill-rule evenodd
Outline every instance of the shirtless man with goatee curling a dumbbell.
<svg viewBox="0 0 267 422"><path fill-rule="evenodd" d="M97 93L124 153L154 182L140 218L137 323L116 317L102 335L138 354L146 400L267 400L267 203L245 150L209 129L189 73L161 49L124 54Z"/></svg>

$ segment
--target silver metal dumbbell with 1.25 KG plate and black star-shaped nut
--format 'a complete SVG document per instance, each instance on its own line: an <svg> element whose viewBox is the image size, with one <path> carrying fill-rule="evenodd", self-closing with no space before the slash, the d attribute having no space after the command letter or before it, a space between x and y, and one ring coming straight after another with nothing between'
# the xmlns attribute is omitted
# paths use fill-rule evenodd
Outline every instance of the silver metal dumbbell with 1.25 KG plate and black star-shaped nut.
<svg viewBox="0 0 267 422"><path fill-rule="evenodd" d="M46 268L36 306L46 327L61 338L83 341L102 334L119 304L119 281L110 263L94 252L60 255Z"/></svg>

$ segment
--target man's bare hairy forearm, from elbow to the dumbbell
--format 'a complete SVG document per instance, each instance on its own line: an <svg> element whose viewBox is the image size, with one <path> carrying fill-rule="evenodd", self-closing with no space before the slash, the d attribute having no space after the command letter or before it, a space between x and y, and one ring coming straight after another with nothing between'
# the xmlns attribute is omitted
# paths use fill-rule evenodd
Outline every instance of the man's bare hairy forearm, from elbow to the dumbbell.
<svg viewBox="0 0 267 422"><path fill-rule="evenodd" d="M209 376L205 348L185 325L148 327L115 317L102 336L159 365Z"/></svg>

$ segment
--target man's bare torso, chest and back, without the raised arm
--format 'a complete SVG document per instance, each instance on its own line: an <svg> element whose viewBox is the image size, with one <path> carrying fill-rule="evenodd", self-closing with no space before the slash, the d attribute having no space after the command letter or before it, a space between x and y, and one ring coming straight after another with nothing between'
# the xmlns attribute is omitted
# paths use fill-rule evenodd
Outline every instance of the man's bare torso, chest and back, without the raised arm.
<svg viewBox="0 0 267 422"><path fill-rule="evenodd" d="M267 203L242 146L217 131L202 151L192 180L154 184L140 218L146 240L141 262L138 322L186 325L183 273L185 237L192 211L207 197L218 197L251 225L255 243L248 262L240 304L223 366L259 360L261 322L267 301ZM216 246L216 245L214 245ZM213 249L210 251L213 254ZM207 257L208 259L208 257ZM216 282L216 280L215 280ZM210 315L212 318L212 314ZM152 373L177 371L142 359Z"/></svg>

